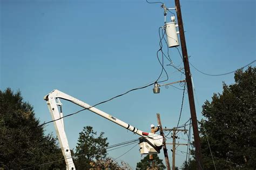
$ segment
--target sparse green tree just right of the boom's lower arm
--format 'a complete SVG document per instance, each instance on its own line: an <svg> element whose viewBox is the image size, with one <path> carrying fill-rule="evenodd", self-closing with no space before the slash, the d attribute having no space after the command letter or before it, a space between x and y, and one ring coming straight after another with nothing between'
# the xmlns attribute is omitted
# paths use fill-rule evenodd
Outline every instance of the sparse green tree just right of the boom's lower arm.
<svg viewBox="0 0 256 170"><path fill-rule="evenodd" d="M94 132L91 126L84 127L79 133L75 153L75 164L78 169L90 169L99 160L106 158L106 147L109 143L106 141L107 138L103 138L103 134L104 132L101 132L97 137L97 132Z"/></svg>

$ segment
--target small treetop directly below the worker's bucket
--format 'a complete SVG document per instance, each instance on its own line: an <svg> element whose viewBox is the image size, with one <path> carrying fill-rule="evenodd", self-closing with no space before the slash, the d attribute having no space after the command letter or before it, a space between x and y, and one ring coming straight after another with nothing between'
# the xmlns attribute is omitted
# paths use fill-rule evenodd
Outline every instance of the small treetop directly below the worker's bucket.
<svg viewBox="0 0 256 170"><path fill-rule="evenodd" d="M153 160L149 159L149 155L146 155L140 162L137 163L136 169L165 169L163 160L159 159L157 154L153 154Z"/></svg>

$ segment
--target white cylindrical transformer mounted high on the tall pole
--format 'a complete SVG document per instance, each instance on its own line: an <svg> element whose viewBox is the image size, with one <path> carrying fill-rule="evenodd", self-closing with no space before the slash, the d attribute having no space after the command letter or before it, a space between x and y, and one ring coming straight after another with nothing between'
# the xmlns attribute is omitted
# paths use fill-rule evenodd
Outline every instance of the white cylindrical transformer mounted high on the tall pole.
<svg viewBox="0 0 256 170"><path fill-rule="evenodd" d="M176 22L166 23L165 32L169 47L179 46L179 39L176 31Z"/></svg>

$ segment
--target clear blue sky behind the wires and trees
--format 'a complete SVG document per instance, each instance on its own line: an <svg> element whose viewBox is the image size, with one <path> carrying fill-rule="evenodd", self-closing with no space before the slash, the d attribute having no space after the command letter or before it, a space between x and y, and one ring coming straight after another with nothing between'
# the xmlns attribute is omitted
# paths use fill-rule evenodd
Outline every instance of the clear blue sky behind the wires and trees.
<svg viewBox="0 0 256 170"><path fill-rule="evenodd" d="M174 1L162 2L169 8L174 7ZM255 60L254 0L184 0L180 3L188 55L199 70L210 74L226 73ZM53 89L93 105L159 76L158 28L164 25L160 4L134 0L1 0L0 6L0 89L21 90L24 100L34 106L41 123L51 120L43 97ZM169 13L168 21L170 16ZM174 64L180 64L177 49L170 49L170 57ZM170 63L165 60L164 64ZM167 82L184 79L172 67L165 68L169 74ZM222 91L223 81L233 83L233 74L205 76L193 67L191 72L196 88L197 116L201 119L201 105L211 100L214 92ZM133 91L98 108L142 131L150 131L150 125L157 124L156 113L160 113L163 126L176 126L183 91L161 87L160 94L153 94L152 88ZM64 115L79 110L68 102L63 104ZM180 124L189 118L185 93ZM83 126L105 132L110 145L138 138L89 111L64 121L71 148L75 148ZM52 132L56 135L53 124L48 124L45 133ZM178 141L186 142L185 136L180 134ZM117 158L131 147L111 151L109 157ZM168 148L171 158L171 146ZM177 149L176 165L180 167L186 157L181 151L185 151L186 146ZM159 156L164 159L163 152ZM118 160L124 160L134 169L140 159L138 146Z"/></svg>

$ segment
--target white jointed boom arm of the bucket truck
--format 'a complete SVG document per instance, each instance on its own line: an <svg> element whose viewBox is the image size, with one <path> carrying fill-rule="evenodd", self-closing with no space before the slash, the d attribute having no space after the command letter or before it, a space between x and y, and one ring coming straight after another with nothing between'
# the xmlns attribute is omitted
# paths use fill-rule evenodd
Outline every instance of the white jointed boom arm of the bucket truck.
<svg viewBox="0 0 256 170"><path fill-rule="evenodd" d="M133 133L137 133L138 135L145 138L151 144L152 147L161 147L163 144L163 137L161 137L161 135L142 132L142 131L138 130L138 128L133 127L130 124L127 124L124 121L119 120L110 114L100 111L97 108L84 103L83 101L80 101L72 96L69 96L68 94L65 94L59 90L53 90L51 93L47 94L44 97L44 100L46 100L46 103L48 104L48 108L51 113L52 120L56 120L56 121L54 121L54 125L55 125L55 129L57 132L57 137L58 137L58 140L60 143L60 147L62 148L62 153L63 153L64 159L66 162L66 169L75 169L75 165L73 164L73 160L71 157L71 152L70 152L70 148L69 148L69 144L68 144L68 139L66 138L66 134L65 134L65 130L64 130L64 121L62 118L63 117L62 104L60 103L59 99L71 101L74 104L77 104L77 105L79 105L83 108L86 108L87 110L90 110L90 111L110 120L110 121L113 121L113 123L116 123L116 124L126 128L127 130L132 131ZM60 106L60 112L58 110L58 106ZM59 120L57 120L57 119L59 119Z"/></svg>

